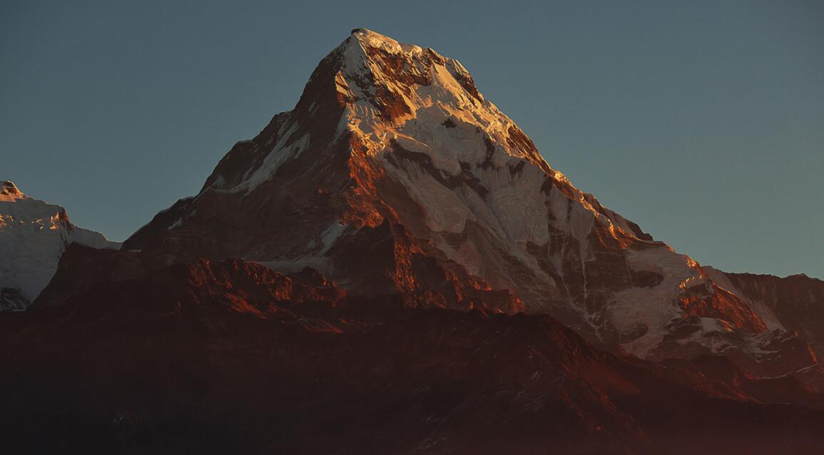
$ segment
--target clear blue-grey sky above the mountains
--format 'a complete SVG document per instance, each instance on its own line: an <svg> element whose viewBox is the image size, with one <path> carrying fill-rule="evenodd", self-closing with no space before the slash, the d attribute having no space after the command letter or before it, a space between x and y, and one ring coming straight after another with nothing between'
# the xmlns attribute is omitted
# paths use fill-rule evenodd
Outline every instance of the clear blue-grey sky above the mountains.
<svg viewBox="0 0 824 455"><path fill-rule="evenodd" d="M824 2L8 2L0 179L122 241L355 27L460 59L581 190L701 264L824 278Z"/></svg>

